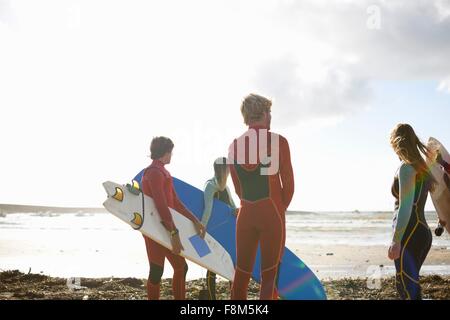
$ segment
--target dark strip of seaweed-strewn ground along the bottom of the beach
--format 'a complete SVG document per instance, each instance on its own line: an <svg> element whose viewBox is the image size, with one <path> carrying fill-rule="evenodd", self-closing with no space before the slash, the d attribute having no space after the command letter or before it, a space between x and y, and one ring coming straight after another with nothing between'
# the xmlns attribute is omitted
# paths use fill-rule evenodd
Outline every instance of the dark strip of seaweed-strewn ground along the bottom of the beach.
<svg viewBox="0 0 450 320"><path fill-rule="evenodd" d="M382 279L377 289L369 289L367 279L339 279L323 282L328 299L398 299L394 279ZM423 297L433 300L450 299L449 276L424 276L421 278ZM370 287L370 286L369 286ZM187 299L198 300L203 280L188 281ZM259 285L251 282L248 297L258 298ZM227 281L217 283L217 298L230 298ZM39 274L24 274L17 270L0 273L0 300L143 300L146 299L145 280L136 278L81 278L75 280L53 278ZM172 299L171 279L164 279L161 286L161 299Z"/></svg>

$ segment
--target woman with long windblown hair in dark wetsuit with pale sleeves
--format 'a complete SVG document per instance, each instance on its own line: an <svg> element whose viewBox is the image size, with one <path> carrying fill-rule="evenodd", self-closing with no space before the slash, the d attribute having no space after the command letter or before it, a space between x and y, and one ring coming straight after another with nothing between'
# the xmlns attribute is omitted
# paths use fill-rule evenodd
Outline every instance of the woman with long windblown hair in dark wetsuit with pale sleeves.
<svg viewBox="0 0 450 320"><path fill-rule="evenodd" d="M432 242L424 208L428 192L436 183L421 153L426 157L431 157L431 153L408 124L395 127L391 145L402 164L392 186L396 210L388 257L395 262L400 297L418 300L422 298L419 272Z"/></svg>

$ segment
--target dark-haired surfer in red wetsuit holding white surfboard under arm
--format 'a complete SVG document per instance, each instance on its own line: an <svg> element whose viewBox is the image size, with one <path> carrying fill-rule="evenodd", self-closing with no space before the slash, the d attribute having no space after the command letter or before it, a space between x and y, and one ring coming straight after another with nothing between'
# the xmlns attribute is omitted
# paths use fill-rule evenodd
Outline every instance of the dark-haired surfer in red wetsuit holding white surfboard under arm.
<svg viewBox="0 0 450 320"><path fill-rule="evenodd" d="M142 191L153 198L156 209L161 217L161 223L170 233L172 251L144 236L147 249L150 272L147 281L147 296L149 300L159 299L160 282L164 271L165 258L169 260L174 270L172 280L173 295L176 300L184 300L186 295L186 260L179 254L183 250L178 230L173 222L169 207L190 219L203 237L205 228L200 221L178 199L173 187L172 177L164 167L170 163L174 144L169 138L156 137L150 145L153 162L144 171L142 177Z"/></svg>

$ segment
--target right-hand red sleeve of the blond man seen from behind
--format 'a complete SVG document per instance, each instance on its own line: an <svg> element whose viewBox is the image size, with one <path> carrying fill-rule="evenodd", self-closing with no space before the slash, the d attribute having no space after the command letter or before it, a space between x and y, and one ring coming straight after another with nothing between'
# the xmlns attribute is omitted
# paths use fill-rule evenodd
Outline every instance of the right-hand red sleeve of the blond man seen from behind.
<svg viewBox="0 0 450 320"><path fill-rule="evenodd" d="M291 152L289 143L284 137L280 136L280 178L282 184L283 204L285 208L289 207L294 196L294 172L292 170Z"/></svg>

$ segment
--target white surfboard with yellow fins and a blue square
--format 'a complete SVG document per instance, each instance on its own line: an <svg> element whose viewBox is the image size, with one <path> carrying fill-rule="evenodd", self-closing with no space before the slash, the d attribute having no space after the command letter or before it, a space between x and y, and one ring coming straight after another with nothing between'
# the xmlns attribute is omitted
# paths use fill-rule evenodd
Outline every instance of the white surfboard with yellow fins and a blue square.
<svg viewBox="0 0 450 320"><path fill-rule="evenodd" d="M161 218L153 199L144 195L137 184L124 186L108 181L103 183L103 187L108 194L108 199L103 206L109 212L155 242L172 249L170 235L161 224ZM233 280L233 260L222 245L207 233L204 238L205 242L200 240L201 245L196 249L190 240L191 237L197 235L192 221L172 208L169 210L184 247L180 255L225 279ZM198 237L195 238L199 241Z"/></svg>

